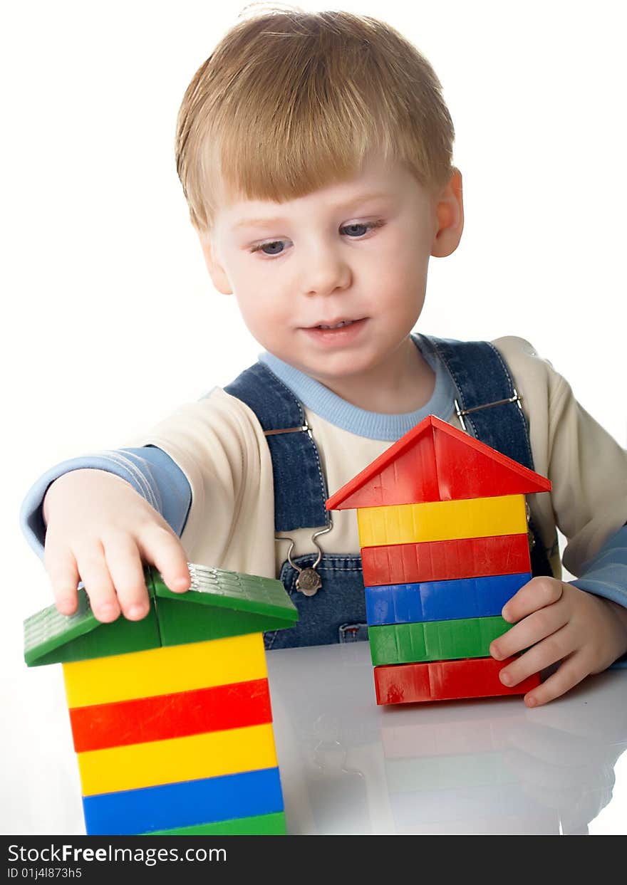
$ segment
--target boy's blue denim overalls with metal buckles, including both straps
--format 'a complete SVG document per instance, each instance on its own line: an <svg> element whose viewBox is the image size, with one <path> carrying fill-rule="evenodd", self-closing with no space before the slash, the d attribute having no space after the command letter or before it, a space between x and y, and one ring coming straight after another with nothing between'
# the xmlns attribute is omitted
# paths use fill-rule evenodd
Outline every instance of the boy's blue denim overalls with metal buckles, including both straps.
<svg viewBox="0 0 627 885"><path fill-rule="evenodd" d="M426 335L423 337L427 337ZM533 470L527 423L511 375L490 342L458 342L429 337L451 374L455 407L468 434ZM417 346L417 345L416 345ZM275 531L329 526L327 484L302 404L266 366L245 369L225 390L248 405L263 427L275 484ZM315 429L315 428L314 428ZM392 444L392 443L390 443ZM530 522L531 571L552 574L546 550ZM361 557L325 553L315 566L322 585L313 596L296 587L299 570L318 555L283 562L279 580L298 609L294 627L264 635L267 649L355 642L368 639Z"/></svg>

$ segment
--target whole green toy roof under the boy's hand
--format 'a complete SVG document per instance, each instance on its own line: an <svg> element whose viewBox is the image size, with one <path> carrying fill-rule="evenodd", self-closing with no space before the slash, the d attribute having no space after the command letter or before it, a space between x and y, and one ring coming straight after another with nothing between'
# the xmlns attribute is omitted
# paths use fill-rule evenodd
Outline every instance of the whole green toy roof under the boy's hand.
<svg viewBox="0 0 627 885"><path fill-rule="evenodd" d="M281 581L258 575L190 567L187 593L172 593L159 572L146 566L151 610L143 620L97 620L84 589L73 615L50 605L24 621L28 666L104 658L164 645L199 643L226 636L282 630L298 620L296 606Z"/></svg>

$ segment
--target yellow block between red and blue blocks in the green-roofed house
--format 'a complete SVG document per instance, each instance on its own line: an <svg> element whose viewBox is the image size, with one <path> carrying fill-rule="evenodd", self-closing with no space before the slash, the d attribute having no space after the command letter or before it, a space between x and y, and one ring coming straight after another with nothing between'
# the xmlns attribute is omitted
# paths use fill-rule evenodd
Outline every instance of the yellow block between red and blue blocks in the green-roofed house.
<svg viewBox="0 0 627 885"><path fill-rule="evenodd" d="M272 724L77 753L82 795L274 768Z"/></svg>

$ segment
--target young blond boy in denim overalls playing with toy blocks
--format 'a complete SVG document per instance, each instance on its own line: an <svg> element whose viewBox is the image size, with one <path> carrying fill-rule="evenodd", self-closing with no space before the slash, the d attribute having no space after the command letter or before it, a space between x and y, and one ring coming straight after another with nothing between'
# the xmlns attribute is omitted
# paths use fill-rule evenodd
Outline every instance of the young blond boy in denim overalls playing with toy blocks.
<svg viewBox="0 0 627 885"><path fill-rule="evenodd" d="M324 500L432 413L553 483L530 496L535 576L491 654L526 651L501 680L561 662L525 696L545 704L625 654L627 453L528 342L412 334L430 256L461 238L452 149L435 73L383 22L269 12L225 35L183 98L177 169L213 285L265 352L35 483L23 525L60 612L82 581L100 620L141 619L142 562L184 592L189 560L281 578L300 620L268 649L365 638L356 520Z"/></svg>

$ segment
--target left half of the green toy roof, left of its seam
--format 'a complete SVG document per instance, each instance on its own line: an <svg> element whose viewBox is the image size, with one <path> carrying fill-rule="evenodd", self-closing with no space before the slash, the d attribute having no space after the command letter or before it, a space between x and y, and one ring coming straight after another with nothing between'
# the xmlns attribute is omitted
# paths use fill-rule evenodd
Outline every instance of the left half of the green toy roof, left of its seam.
<svg viewBox="0 0 627 885"><path fill-rule="evenodd" d="M24 621L24 659L28 666L105 658L128 651L157 649L161 644L154 605L143 620L118 618L110 624L97 620L89 596L78 591L75 614L59 614L55 605Z"/></svg>

